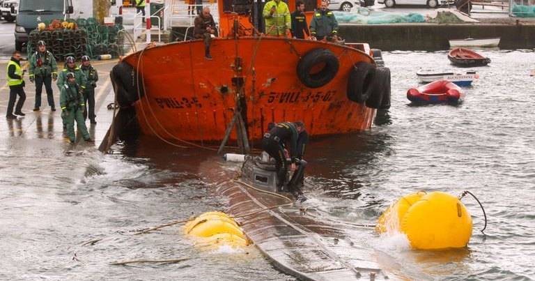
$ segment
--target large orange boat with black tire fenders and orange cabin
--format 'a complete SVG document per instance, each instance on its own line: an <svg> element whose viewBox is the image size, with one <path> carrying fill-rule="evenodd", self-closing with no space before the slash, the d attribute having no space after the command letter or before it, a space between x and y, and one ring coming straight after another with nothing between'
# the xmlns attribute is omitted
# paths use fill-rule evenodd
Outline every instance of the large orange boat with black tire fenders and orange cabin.
<svg viewBox="0 0 535 281"><path fill-rule="evenodd" d="M389 107L390 73L369 45L265 36L249 22L254 7L226 12L227 1L218 3L213 60L191 40L130 54L112 70L118 102L135 108L142 133L239 143L261 139L270 122L302 120L311 136L334 135L370 128L375 109Z"/></svg>

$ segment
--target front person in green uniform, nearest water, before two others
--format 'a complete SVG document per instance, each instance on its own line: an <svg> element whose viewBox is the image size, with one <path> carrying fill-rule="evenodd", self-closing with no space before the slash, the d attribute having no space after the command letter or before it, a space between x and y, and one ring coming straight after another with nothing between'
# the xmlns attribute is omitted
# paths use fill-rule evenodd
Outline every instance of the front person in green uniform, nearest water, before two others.
<svg viewBox="0 0 535 281"><path fill-rule="evenodd" d="M84 122L84 95L82 95L79 85L76 83L75 73L65 74L65 84L61 87L59 94L59 105L61 106L61 118L67 127L67 136L71 144L75 143L75 121L78 132L82 133L82 137L86 142L93 142L89 132L87 131L86 123Z"/></svg>

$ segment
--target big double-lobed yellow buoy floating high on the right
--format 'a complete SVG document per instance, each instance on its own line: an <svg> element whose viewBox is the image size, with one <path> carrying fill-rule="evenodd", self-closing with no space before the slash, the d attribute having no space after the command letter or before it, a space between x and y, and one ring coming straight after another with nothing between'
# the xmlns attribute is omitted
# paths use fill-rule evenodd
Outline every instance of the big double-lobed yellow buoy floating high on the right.
<svg viewBox="0 0 535 281"><path fill-rule="evenodd" d="M417 192L387 208L375 229L401 232L415 249L462 248L472 236L472 217L457 197Z"/></svg>

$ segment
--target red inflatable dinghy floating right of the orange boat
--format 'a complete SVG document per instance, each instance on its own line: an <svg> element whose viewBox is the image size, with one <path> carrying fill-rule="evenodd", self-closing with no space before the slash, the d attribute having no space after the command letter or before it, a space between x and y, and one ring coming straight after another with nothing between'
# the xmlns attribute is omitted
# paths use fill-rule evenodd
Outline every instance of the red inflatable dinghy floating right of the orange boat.
<svg viewBox="0 0 535 281"><path fill-rule="evenodd" d="M438 80L407 91L407 98L414 103L457 103L463 96L463 90L448 80Z"/></svg>

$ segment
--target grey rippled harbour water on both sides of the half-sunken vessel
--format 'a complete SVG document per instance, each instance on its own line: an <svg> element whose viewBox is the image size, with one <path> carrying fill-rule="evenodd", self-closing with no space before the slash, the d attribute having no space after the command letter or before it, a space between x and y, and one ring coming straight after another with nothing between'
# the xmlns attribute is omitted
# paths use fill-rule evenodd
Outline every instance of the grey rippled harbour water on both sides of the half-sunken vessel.
<svg viewBox="0 0 535 281"><path fill-rule="evenodd" d="M419 190L479 198L488 226L481 233L481 208L463 198L474 221L465 249L416 251L402 236L354 234L410 280L535 278L535 52L481 54L492 62L474 68L480 78L463 103L412 106L405 93L417 86L416 71L452 69L447 53L383 53L389 112L371 130L316 139L307 149L313 187L305 192L332 220L374 224L389 204ZM180 225L133 235L226 208L214 183L234 176L235 166L212 151L132 137L102 155L90 146L51 149L50 136L31 130L12 130L0 143L0 280L293 280L254 247L195 247ZM110 264L182 257L189 259Z"/></svg>

